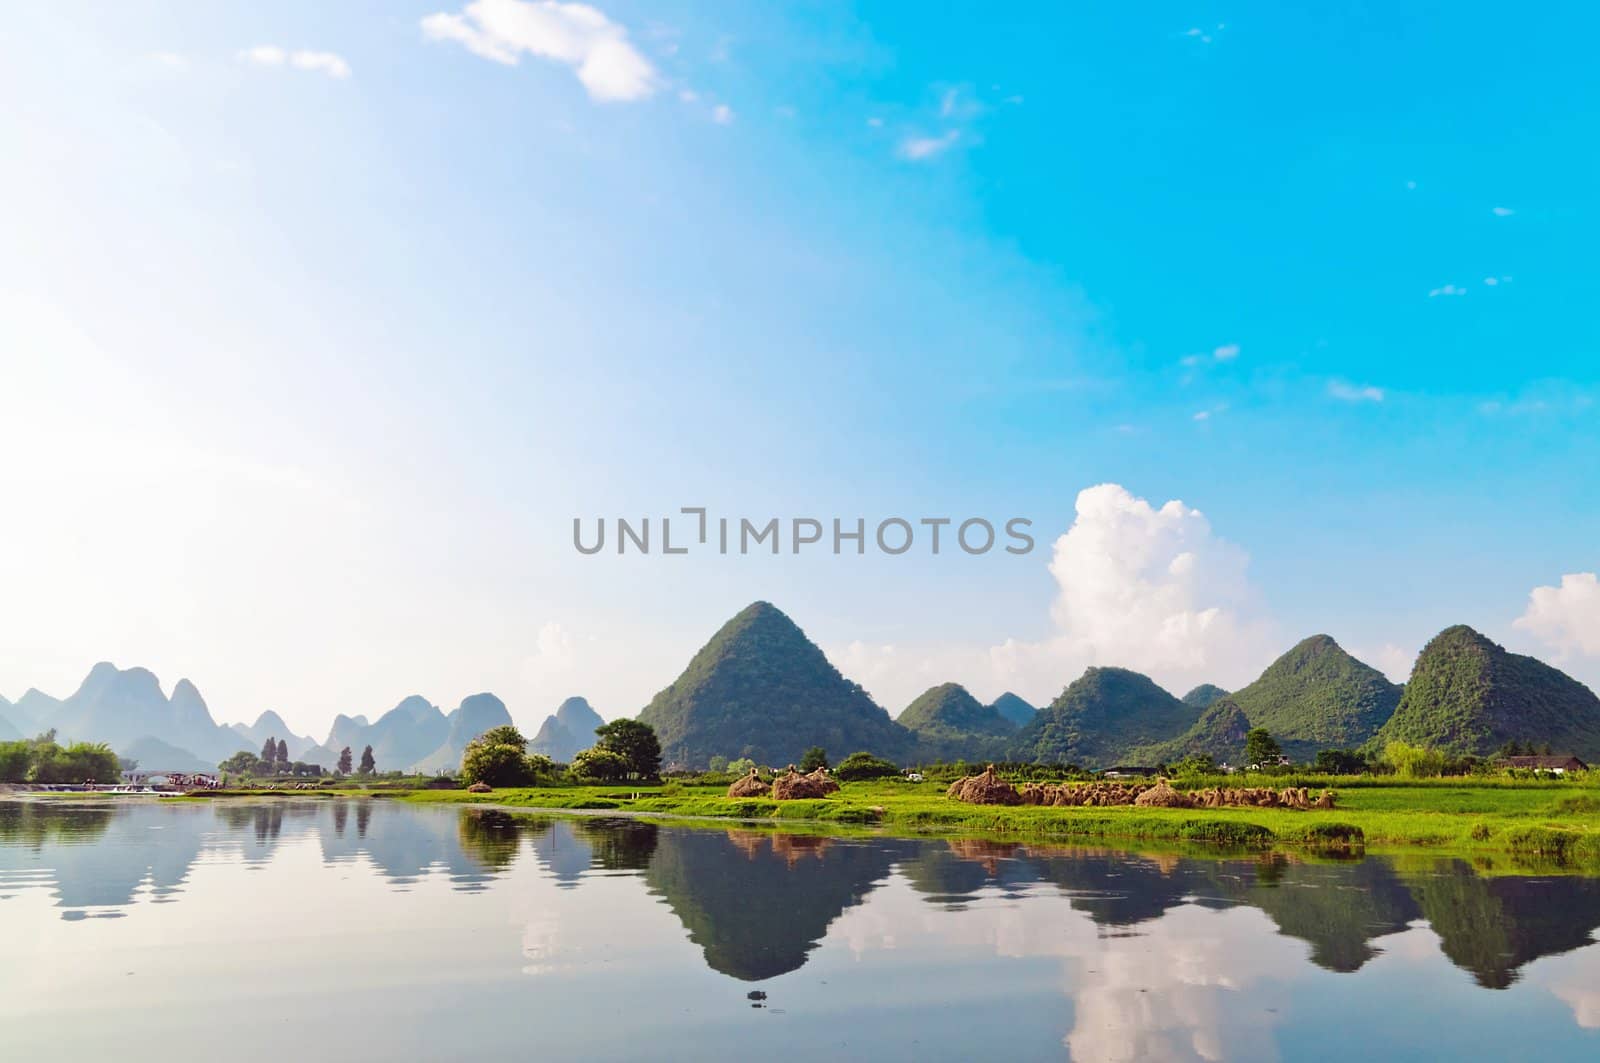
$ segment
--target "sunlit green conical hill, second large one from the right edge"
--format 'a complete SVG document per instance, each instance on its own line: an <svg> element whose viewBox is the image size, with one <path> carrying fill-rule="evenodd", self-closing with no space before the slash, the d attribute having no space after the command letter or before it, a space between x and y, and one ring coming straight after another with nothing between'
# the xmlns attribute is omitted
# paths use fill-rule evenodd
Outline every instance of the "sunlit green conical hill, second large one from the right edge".
<svg viewBox="0 0 1600 1063"><path fill-rule="evenodd" d="M1350 749L1376 735L1394 716L1400 687L1331 637L1312 636L1229 701L1251 727L1272 732L1291 759L1309 760L1318 749Z"/></svg>

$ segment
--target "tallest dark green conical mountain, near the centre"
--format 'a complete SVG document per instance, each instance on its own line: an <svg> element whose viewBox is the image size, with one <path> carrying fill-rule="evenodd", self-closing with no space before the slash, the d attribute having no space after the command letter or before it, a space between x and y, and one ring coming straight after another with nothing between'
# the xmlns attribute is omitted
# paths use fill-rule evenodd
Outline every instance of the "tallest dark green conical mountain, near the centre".
<svg viewBox="0 0 1600 1063"><path fill-rule="evenodd" d="M896 759L912 746L909 732L766 602L723 624L638 719L656 728L667 765L704 767L718 754L784 765L810 746L835 759L858 749Z"/></svg>

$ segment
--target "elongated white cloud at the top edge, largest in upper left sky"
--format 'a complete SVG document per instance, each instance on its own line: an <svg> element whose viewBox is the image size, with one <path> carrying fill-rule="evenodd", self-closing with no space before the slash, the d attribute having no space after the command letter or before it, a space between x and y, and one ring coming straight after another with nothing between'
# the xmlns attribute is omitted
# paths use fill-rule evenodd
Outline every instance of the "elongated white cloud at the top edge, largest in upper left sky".
<svg viewBox="0 0 1600 1063"><path fill-rule="evenodd" d="M645 99L659 88L656 69L627 40L627 29L586 3L474 0L459 14L429 14L422 32L506 66L517 66L523 53L565 64L600 102Z"/></svg>

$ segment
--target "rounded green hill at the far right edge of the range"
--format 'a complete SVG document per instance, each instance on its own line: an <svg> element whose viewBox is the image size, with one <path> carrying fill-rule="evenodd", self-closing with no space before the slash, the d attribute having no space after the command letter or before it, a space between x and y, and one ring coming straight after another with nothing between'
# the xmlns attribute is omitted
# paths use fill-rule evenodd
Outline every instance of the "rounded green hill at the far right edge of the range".
<svg viewBox="0 0 1600 1063"><path fill-rule="evenodd" d="M1467 626L1422 647L1400 706L1378 735L1486 756L1507 741L1600 759L1600 698L1560 669L1507 653Z"/></svg>

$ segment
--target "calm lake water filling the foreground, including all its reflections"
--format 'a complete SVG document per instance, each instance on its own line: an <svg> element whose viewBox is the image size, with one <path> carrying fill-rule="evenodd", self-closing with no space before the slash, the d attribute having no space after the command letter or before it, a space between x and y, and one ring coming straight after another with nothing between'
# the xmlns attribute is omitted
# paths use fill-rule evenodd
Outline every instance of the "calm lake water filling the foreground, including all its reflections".
<svg viewBox="0 0 1600 1063"><path fill-rule="evenodd" d="M0 1055L1597 1058L1595 927L1437 858L0 802Z"/></svg>

